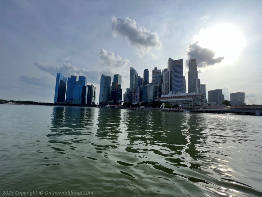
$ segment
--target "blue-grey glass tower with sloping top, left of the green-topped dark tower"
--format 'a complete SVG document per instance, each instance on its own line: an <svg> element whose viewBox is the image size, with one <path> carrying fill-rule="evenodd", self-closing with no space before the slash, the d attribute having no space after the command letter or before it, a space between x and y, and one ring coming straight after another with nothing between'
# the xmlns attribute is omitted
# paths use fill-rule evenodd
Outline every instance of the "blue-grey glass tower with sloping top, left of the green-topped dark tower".
<svg viewBox="0 0 262 197"><path fill-rule="evenodd" d="M99 103L110 101L111 77L102 73L100 79Z"/></svg>

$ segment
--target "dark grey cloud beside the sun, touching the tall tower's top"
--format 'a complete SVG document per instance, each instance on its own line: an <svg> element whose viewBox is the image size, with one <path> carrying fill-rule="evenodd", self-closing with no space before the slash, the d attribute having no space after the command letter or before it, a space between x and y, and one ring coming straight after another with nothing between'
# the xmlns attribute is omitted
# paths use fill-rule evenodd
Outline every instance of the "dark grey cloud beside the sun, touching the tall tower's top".
<svg viewBox="0 0 262 197"><path fill-rule="evenodd" d="M186 54L188 56L186 64L188 64L190 59L196 59L199 68L215 65L224 59L224 57L214 58L215 52L211 49L201 47L198 41L189 44Z"/></svg>

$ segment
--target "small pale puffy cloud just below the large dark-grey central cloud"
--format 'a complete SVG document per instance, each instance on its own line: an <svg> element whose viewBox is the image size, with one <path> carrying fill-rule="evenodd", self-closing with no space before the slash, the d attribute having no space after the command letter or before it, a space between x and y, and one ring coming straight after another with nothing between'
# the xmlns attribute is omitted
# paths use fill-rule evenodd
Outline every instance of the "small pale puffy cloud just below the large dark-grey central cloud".
<svg viewBox="0 0 262 197"><path fill-rule="evenodd" d="M108 52L105 49L101 49L97 52L99 56L98 63L102 66L113 67L125 67L130 64L127 58L122 59L119 55L115 55L113 52Z"/></svg>

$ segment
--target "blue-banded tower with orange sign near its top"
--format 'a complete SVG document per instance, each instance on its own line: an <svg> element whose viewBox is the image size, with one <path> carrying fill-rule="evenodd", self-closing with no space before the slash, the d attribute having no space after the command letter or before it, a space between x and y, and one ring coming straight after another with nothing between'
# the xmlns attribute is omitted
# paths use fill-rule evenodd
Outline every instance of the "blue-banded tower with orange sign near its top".
<svg viewBox="0 0 262 197"><path fill-rule="evenodd" d="M184 93L183 59L172 61L172 91Z"/></svg>

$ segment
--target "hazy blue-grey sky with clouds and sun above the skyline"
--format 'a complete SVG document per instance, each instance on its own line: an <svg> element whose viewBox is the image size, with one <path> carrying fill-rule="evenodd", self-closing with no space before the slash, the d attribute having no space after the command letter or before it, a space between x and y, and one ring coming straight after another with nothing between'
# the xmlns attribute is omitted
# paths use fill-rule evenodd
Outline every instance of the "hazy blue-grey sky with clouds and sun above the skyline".
<svg viewBox="0 0 262 197"><path fill-rule="evenodd" d="M56 73L81 75L96 87L101 74L130 67L167 68L168 58L196 58L208 90L244 92L262 104L262 1L0 1L0 99L54 102Z"/></svg>

